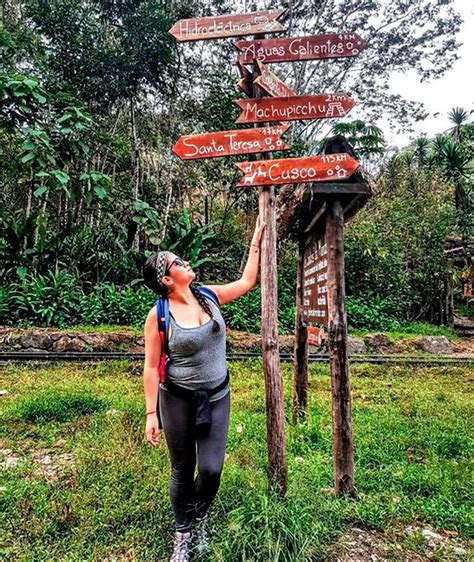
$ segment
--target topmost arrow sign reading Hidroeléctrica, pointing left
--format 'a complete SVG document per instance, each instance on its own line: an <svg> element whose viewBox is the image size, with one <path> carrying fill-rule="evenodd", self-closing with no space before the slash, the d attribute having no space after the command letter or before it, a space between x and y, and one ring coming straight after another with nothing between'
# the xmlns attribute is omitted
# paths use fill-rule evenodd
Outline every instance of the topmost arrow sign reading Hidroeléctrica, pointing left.
<svg viewBox="0 0 474 562"><path fill-rule="evenodd" d="M201 39L220 39L275 33L286 28L278 22L285 10L262 10L249 14L234 14L207 18L193 18L177 21L170 29L178 41L199 41Z"/></svg>

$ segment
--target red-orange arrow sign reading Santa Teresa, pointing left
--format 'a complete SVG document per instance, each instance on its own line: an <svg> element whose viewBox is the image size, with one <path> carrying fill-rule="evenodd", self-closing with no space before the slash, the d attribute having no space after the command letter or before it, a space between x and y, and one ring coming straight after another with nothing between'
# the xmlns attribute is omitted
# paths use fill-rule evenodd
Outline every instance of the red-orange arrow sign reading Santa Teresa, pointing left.
<svg viewBox="0 0 474 562"><path fill-rule="evenodd" d="M288 128L288 123L283 123L282 125L259 129L187 135L178 140L173 147L173 152L182 160L192 160L287 150L289 145L281 140L281 136Z"/></svg>

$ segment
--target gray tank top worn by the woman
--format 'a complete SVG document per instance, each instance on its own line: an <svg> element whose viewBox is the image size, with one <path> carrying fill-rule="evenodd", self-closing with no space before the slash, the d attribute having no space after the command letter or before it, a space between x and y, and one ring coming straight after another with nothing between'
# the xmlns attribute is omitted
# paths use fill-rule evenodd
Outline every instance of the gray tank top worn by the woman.
<svg viewBox="0 0 474 562"><path fill-rule="evenodd" d="M169 360L166 377L173 383L196 390L215 388L227 375L225 322L219 307L208 299L219 330L213 331L213 320L195 328L183 328L170 314ZM160 388L166 388L160 383ZM223 398L229 385L209 397L210 402Z"/></svg>

